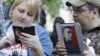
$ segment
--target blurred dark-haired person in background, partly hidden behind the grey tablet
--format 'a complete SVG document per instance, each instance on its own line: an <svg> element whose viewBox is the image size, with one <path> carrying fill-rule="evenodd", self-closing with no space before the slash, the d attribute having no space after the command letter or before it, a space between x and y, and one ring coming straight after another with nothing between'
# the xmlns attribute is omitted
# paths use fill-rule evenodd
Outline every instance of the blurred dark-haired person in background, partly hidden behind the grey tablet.
<svg viewBox="0 0 100 56"><path fill-rule="evenodd" d="M51 41L52 41L53 46L54 46L54 52L53 52L54 56L57 55L56 45L57 45L57 42L58 42L58 35L57 35L57 30L56 30L56 23L64 23L64 20L61 17L56 17L55 20L54 20L53 32L51 33Z"/></svg>

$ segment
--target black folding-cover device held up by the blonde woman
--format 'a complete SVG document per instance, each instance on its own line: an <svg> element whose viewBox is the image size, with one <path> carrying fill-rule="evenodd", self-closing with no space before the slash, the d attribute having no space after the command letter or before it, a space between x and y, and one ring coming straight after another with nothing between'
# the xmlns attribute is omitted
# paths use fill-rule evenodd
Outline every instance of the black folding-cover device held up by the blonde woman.
<svg viewBox="0 0 100 56"><path fill-rule="evenodd" d="M13 26L13 32L15 35L15 41L16 43L21 43L18 37L18 33L24 32L30 35L35 35L35 26L30 26L30 27L19 27L19 26Z"/></svg>

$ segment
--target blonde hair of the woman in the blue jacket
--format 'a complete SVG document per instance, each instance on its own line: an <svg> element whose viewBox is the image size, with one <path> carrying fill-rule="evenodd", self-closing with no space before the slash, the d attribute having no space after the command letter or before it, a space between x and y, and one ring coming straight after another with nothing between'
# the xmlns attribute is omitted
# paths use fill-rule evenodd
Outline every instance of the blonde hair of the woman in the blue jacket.
<svg viewBox="0 0 100 56"><path fill-rule="evenodd" d="M40 21L40 16L39 16L40 8L39 8L39 5L38 5L39 3L38 3L37 0L15 0L14 3L12 4L12 6L11 6L10 11L9 11L9 17L10 18L12 17L12 10L22 2L26 2L29 10L33 14L35 13L34 15L36 15L36 17L35 17L33 22L38 23Z"/></svg>

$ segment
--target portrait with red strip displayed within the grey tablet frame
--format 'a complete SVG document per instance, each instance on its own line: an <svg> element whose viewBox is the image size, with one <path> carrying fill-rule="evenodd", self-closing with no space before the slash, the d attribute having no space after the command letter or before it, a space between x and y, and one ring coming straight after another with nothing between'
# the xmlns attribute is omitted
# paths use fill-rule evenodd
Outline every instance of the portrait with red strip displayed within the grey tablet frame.
<svg viewBox="0 0 100 56"><path fill-rule="evenodd" d="M80 54L75 25L61 25L65 48L68 54Z"/></svg>

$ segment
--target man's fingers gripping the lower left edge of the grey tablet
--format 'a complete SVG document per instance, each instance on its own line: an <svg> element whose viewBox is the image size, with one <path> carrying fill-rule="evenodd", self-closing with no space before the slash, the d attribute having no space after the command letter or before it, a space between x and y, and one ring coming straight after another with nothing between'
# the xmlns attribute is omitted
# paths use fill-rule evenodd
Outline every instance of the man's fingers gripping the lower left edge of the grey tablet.
<svg viewBox="0 0 100 56"><path fill-rule="evenodd" d="M56 49L56 52L58 55L67 56L67 52L66 52L64 43L57 42L55 49Z"/></svg>

